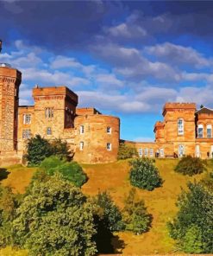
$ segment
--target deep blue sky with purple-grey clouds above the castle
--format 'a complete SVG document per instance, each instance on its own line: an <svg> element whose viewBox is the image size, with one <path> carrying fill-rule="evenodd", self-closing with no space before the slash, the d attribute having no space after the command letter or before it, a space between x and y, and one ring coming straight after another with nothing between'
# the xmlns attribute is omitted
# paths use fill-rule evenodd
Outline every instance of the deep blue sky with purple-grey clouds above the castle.
<svg viewBox="0 0 213 256"><path fill-rule="evenodd" d="M213 2L0 2L0 62L32 88L68 86L79 107L121 118L121 138L152 141L166 101L213 108Z"/></svg>

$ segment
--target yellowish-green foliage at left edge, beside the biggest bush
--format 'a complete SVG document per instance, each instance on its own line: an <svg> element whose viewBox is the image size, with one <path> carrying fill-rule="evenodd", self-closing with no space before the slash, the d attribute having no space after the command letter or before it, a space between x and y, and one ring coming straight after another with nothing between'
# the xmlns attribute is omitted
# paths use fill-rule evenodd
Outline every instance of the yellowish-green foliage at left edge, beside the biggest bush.
<svg viewBox="0 0 213 256"><path fill-rule="evenodd" d="M11 221L16 216L16 208L21 196L15 195L9 187L0 187L0 246L11 242Z"/></svg>

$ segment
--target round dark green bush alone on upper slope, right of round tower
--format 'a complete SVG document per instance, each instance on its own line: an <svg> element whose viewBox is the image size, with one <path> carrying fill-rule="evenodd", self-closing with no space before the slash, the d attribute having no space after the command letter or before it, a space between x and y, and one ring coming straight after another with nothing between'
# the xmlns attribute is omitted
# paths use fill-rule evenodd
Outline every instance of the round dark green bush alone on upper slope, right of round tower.
<svg viewBox="0 0 213 256"><path fill-rule="evenodd" d="M162 179L159 170L154 166L153 161L148 158L138 158L129 162L130 183L140 189L149 191L160 187Z"/></svg>

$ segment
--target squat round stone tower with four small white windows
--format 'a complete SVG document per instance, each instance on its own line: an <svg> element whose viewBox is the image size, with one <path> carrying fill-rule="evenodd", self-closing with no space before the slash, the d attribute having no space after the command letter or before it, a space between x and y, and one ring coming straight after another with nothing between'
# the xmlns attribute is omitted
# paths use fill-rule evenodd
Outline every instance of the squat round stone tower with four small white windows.
<svg viewBox="0 0 213 256"><path fill-rule="evenodd" d="M84 132L81 131L82 126ZM110 133L107 132L107 127L110 128ZM75 161L80 163L116 161L120 138L119 118L104 115L78 116L75 118L75 129Z"/></svg>

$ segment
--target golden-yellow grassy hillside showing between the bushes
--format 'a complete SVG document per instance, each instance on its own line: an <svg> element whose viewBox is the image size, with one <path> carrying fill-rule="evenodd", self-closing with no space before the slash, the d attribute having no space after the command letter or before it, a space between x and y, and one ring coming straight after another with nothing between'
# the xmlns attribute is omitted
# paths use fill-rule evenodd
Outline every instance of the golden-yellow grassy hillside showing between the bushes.
<svg viewBox="0 0 213 256"><path fill-rule="evenodd" d="M160 176L164 179L163 186L153 191L137 189L138 195L144 199L147 210L153 214L152 228L146 234L135 235L129 232L116 234L113 241L117 250L123 255L141 255L153 253L172 253L174 251L173 240L168 236L166 222L170 221L176 214L175 202L181 192L186 189L186 184L194 179L199 180L203 175L187 177L173 171L178 160L157 159L156 166L160 170ZM96 195L98 190L107 190L122 208L123 200L128 194L131 186L128 181L128 161L118 161L107 164L82 164L89 181L85 183L82 190L86 195ZM0 181L3 185L11 186L14 191L23 193L36 169L16 165L7 170L0 170ZM121 246L122 245L122 246ZM1 255L25 256L26 251L13 252L11 248L0 251Z"/></svg>

